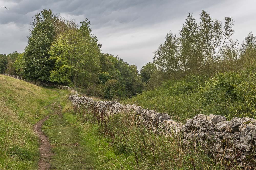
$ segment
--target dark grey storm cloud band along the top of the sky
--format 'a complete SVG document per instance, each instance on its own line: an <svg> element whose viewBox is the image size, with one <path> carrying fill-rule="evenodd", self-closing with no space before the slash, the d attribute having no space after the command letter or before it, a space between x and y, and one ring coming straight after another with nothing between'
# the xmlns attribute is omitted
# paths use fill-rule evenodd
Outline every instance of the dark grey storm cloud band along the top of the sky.
<svg viewBox="0 0 256 170"><path fill-rule="evenodd" d="M1 2L1 1L0 1ZM216 2L209 1L210 4ZM200 1L155 1L155 0L110 0L110 1L84 1L84 0L23 0L4 1L8 11L0 11L0 23L28 24L34 13L42 9L51 8L54 12L64 13L73 16L83 15L88 18L96 27L115 24L152 24L161 22L169 17L177 17L180 13L189 11L190 6L201 9L209 2ZM199 4L199 5L198 5ZM178 9L183 10L178 10Z"/></svg>

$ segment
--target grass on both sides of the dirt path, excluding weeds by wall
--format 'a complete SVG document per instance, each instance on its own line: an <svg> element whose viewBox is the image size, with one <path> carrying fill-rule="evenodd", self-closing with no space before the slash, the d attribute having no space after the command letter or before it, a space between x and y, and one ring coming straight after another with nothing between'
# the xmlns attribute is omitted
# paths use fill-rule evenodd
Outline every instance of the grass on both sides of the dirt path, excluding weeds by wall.
<svg viewBox="0 0 256 170"><path fill-rule="evenodd" d="M0 75L0 169L37 169L38 138L33 124L50 115L43 130L55 155L51 169L120 169L125 156L117 156L98 126L73 114L67 98L63 116L51 114L67 91L38 87Z"/></svg>

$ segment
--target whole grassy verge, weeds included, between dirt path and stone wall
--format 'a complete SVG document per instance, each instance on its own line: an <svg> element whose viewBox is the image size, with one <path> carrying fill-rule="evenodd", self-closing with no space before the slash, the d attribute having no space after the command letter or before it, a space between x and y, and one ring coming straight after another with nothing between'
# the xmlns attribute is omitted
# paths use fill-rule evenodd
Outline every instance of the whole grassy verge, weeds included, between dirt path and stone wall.
<svg viewBox="0 0 256 170"><path fill-rule="evenodd" d="M54 169L224 169L198 147L184 150L179 137L151 133L134 113L100 122L90 109L73 109L67 99L62 104L63 117L44 125L56 154Z"/></svg>

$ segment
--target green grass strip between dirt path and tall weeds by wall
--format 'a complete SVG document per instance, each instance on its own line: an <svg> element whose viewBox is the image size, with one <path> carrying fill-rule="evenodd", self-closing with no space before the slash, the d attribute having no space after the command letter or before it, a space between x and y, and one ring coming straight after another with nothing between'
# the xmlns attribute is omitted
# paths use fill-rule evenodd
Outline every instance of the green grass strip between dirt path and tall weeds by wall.
<svg viewBox="0 0 256 170"><path fill-rule="evenodd" d="M63 115L51 115L43 131L55 154L51 169L121 169L129 158L116 154L110 139L99 134L97 124L74 114L71 103L64 100ZM129 168L131 169L131 168Z"/></svg>

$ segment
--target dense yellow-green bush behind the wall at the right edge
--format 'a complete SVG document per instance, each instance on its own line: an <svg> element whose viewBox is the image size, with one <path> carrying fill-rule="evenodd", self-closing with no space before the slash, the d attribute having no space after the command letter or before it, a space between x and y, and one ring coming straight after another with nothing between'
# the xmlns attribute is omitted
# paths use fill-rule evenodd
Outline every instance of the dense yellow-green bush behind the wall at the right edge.
<svg viewBox="0 0 256 170"><path fill-rule="evenodd" d="M217 115L256 118L255 73L220 73L209 80L202 90L202 107Z"/></svg>

